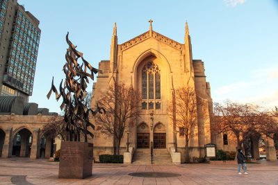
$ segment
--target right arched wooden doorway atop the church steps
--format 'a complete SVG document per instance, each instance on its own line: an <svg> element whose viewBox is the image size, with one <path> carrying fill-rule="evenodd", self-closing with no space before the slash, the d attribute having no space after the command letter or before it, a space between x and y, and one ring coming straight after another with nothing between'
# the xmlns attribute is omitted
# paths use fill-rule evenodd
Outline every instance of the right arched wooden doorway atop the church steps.
<svg viewBox="0 0 278 185"><path fill-rule="evenodd" d="M166 129L162 123L154 127L154 148L166 148Z"/></svg>

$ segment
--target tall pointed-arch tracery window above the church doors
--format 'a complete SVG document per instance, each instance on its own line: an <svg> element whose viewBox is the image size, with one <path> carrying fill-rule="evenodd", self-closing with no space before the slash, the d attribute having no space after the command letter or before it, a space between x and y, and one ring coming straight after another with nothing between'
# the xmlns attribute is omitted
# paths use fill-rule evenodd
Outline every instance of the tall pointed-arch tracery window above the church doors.
<svg viewBox="0 0 278 185"><path fill-rule="evenodd" d="M154 105L161 109L161 103L156 102L161 99L161 70L154 62L148 62L142 69L142 99L147 100L148 109L154 109Z"/></svg>

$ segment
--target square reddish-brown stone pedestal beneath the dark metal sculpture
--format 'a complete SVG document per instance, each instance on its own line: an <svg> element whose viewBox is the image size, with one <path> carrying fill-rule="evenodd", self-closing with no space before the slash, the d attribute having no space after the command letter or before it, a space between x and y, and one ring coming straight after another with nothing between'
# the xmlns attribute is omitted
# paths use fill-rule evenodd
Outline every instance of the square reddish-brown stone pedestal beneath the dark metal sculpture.
<svg viewBox="0 0 278 185"><path fill-rule="evenodd" d="M59 178L84 179L92 176L92 143L62 141Z"/></svg>

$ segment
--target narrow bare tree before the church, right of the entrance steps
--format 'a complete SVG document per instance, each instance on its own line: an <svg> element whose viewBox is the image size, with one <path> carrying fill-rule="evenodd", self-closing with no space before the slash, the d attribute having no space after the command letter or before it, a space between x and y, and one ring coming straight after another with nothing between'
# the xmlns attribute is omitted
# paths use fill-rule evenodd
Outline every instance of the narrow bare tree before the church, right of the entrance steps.
<svg viewBox="0 0 278 185"><path fill-rule="evenodd" d="M197 126L197 96L191 87L181 87L174 91L173 96L174 98L168 101L167 114L172 123L184 129L186 161L189 161L188 143L190 138L195 136L195 127Z"/></svg>

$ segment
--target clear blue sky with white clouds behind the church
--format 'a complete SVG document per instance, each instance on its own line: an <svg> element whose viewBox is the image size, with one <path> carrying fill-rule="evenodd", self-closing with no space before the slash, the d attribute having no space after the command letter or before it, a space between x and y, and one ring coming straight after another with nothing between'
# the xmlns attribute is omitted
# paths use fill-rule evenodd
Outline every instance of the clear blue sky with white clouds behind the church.
<svg viewBox="0 0 278 185"><path fill-rule="evenodd" d="M40 48L29 102L60 112L52 95L65 78L65 35L98 67L110 58L113 24L118 44L149 30L184 43L188 21L193 59L202 59L214 102L278 106L278 0L19 0L40 20ZM88 91L92 89L92 82Z"/></svg>

